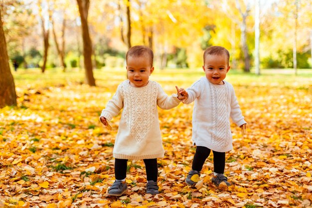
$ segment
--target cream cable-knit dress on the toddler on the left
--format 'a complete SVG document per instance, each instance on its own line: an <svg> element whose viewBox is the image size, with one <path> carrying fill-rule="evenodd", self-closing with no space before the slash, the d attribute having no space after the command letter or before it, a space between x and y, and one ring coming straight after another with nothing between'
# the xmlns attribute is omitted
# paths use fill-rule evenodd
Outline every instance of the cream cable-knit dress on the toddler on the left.
<svg viewBox="0 0 312 208"><path fill-rule="evenodd" d="M155 81L149 80L144 87L132 87L129 80L123 81L101 113L110 121L123 109L114 158L141 160L163 157L157 106L171 109L179 103L176 94L167 96Z"/></svg>

